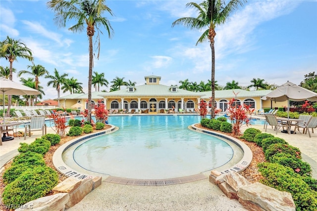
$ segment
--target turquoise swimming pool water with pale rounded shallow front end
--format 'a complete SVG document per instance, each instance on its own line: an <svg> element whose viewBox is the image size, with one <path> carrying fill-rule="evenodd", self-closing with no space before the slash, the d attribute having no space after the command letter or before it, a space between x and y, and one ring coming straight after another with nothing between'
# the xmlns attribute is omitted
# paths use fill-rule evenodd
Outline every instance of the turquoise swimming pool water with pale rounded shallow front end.
<svg viewBox="0 0 317 211"><path fill-rule="evenodd" d="M209 171L241 154L219 137L187 128L200 120L199 115L111 116L118 131L77 143L63 160L106 175L163 179Z"/></svg>

